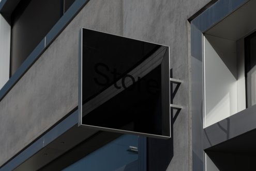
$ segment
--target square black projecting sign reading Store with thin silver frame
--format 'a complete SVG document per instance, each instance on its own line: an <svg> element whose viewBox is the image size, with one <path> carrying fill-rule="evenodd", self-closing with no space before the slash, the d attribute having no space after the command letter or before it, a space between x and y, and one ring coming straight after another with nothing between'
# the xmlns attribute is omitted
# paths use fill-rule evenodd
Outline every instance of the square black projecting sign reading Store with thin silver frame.
<svg viewBox="0 0 256 171"><path fill-rule="evenodd" d="M79 126L170 138L169 47L82 28Z"/></svg>

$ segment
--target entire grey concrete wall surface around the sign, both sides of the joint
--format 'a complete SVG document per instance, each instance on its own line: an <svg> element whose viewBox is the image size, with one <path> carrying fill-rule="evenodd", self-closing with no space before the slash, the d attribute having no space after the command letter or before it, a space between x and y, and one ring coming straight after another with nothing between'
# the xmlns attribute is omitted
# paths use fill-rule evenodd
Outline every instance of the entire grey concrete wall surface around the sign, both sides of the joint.
<svg viewBox="0 0 256 171"><path fill-rule="evenodd" d="M0 102L0 165L78 105L78 36L81 27L170 46L173 77L183 83L174 98L182 105L173 125L168 170L191 170L189 109L190 26L187 19L210 0L89 1ZM156 142L161 145L161 142ZM156 167L161 153L150 156ZM152 169L154 170L154 169Z"/></svg>

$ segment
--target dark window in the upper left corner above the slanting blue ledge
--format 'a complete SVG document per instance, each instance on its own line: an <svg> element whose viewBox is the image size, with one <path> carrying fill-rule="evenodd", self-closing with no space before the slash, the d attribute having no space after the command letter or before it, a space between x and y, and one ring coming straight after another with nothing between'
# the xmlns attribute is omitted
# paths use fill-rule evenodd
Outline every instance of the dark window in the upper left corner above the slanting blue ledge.
<svg viewBox="0 0 256 171"><path fill-rule="evenodd" d="M11 14L12 76L74 0L22 0Z"/></svg>

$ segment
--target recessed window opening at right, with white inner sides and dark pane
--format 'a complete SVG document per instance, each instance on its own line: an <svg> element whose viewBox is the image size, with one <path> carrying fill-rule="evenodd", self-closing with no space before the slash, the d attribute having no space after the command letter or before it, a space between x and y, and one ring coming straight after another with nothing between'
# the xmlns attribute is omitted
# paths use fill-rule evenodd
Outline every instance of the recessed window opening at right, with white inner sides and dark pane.
<svg viewBox="0 0 256 171"><path fill-rule="evenodd" d="M247 37L255 7L249 1L204 33L205 127L256 104L256 34Z"/></svg>

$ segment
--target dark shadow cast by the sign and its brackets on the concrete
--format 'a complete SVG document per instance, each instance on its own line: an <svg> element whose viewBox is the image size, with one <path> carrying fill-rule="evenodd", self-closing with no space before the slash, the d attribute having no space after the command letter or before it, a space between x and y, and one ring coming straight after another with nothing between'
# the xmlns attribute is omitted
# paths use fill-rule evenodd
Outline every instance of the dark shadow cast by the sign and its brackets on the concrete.
<svg viewBox="0 0 256 171"><path fill-rule="evenodd" d="M170 76L172 78L172 69L170 70ZM173 87L171 84L171 104L173 104L173 97L175 96L178 85ZM157 170L162 171L166 170L174 156L173 153L173 124L179 114L180 110L171 110L171 138L168 140L148 138L148 165L147 168L149 171Z"/></svg>

